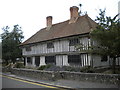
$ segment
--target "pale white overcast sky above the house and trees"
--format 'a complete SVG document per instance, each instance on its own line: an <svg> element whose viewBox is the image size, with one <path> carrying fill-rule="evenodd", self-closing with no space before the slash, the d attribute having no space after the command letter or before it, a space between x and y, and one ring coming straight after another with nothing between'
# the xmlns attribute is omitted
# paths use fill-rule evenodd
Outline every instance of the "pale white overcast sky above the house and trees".
<svg viewBox="0 0 120 90"><path fill-rule="evenodd" d="M82 4L93 20L99 9L106 8L106 15L118 14L120 0L0 0L0 33L5 26L11 29L18 24L22 27L24 40L27 40L40 29L46 27L46 17L53 17L53 24L70 19L69 8Z"/></svg>

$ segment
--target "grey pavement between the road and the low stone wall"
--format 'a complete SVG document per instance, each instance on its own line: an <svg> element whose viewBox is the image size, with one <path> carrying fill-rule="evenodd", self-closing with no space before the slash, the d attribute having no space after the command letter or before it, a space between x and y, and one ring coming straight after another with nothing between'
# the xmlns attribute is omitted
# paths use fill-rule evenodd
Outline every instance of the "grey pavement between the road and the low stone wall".
<svg viewBox="0 0 120 90"><path fill-rule="evenodd" d="M113 89L113 90L120 90L120 86L114 84L106 84L106 83L98 83L98 82L88 82L88 81L74 81L74 80L57 80L57 81L47 81L47 80L37 80L33 78L23 77L23 76L16 76L11 73L3 73L3 75L20 78L28 81L53 85L53 86L60 86L65 88L104 88L104 89Z"/></svg>

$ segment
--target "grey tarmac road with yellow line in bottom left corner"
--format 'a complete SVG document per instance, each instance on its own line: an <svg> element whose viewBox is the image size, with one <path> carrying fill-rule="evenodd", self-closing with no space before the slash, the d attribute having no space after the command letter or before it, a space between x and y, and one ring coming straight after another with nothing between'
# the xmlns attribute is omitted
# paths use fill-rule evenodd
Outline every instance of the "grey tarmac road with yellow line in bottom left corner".
<svg viewBox="0 0 120 90"><path fill-rule="evenodd" d="M56 86L44 85L38 82L32 82L24 79L14 78L6 75L2 75L2 88L54 88L59 89Z"/></svg>

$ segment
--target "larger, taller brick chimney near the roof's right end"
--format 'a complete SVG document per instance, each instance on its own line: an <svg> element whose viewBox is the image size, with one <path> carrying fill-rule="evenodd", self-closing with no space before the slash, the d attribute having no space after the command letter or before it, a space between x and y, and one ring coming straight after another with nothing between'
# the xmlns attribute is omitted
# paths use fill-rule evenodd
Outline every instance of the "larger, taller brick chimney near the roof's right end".
<svg viewBox="0 0 120 90"><path fill-rule="evenodd" d="M78 13L79 8L76 6L70 7L70 23L75 23L77 18L79 17L79 13Z"/></svg>

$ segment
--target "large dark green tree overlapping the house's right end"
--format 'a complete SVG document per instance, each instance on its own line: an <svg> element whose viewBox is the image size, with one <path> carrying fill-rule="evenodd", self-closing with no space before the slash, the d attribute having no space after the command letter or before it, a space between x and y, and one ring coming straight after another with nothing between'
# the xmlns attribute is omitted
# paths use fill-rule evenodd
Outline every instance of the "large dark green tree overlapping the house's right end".
<svg viewBox="0 0 120 90"><path fill-rule="evenodd" d="M120 57L120 22L117 19L105 15L105 10L100 10L96 22L98 26L90 33L91 40L97 42L92 44L86 52L101 56L110 56L113 59L113 73L115 73L116 58ZM80 45L77 49L83 48Z"/></svg>

